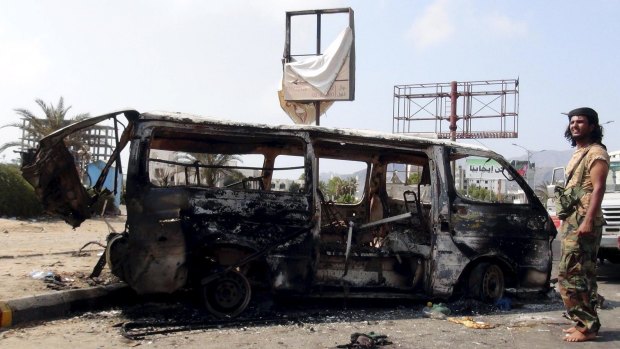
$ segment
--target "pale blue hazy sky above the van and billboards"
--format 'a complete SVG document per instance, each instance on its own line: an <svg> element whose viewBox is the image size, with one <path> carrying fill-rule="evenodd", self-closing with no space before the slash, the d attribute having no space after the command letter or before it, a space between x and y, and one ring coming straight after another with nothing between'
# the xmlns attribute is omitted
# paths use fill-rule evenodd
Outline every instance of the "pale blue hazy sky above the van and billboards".
<svg viewBox="0 0 620 349"><path fill-rule="evenodd" d="M591 106L616 119L618 1L0 0L0 123L63 96L75 114L290 124L277 99L285 12L335 7L355 11L356 99L336 103L323 126L391 132L398 84L516 78L519 138L473 143L525 157L512 143L570 148L561 112ZM604 127L608 149L620 150L620 122ZM0 129L3 141L19 136Z"/></svg>

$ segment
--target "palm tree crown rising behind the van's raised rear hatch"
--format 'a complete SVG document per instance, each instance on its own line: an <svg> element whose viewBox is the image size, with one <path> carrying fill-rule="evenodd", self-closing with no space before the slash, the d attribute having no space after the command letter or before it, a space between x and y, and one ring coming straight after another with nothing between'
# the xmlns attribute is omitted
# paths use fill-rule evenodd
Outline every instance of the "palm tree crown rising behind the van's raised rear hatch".
<svg viewBox="0 0 620 349"><path fill-rule="evenodd" d="M62 97L60 97L56 106L54 106L54 104L52 103L47 105L42 99L36 99L35 102L43 110L43 117L37 117L28 109L14 109L15 112L17 112L17 114L21 116L23 121L6 124L0 126L0 128L17 127L22 130L30 139L39 141L41 140L41 138L49 135L50 133L58 129L61 129L73 122L84 120L90 117L90 114L88 113L74 115L70 118L67 117L67 113L69 112L69 109L71 109L71 106L65 108L64 99ZM79 135L67 137L67 139L65 139L65 144L67 144L67 146L73 147L74 149L81 148L83 146L83 142L81 141ZM0 152L11 147L20 147L21 145L22 142L19 141L6 142L0 145Z"/></svg>

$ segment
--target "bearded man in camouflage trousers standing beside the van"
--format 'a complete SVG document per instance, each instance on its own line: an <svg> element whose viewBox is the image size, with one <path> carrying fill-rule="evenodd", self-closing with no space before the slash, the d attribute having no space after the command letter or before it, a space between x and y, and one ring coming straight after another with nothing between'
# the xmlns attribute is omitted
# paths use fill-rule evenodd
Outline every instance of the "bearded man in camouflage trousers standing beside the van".
<svg viewBox="0 0 620 349"><path fill-rule="evenodd" d="M577 108L568 113L568 119L564 136L576 150L566 167L570 175L566 187L580 187L583 194L576 211L566 217L560 228L562 257L558 281L566 312L576 322L574 327L564 330L564 340L584 342L595 339L601 327L596 313L596 254L604 223L601 202L609 155L602 143L603 128L596 111Z"/></svg>

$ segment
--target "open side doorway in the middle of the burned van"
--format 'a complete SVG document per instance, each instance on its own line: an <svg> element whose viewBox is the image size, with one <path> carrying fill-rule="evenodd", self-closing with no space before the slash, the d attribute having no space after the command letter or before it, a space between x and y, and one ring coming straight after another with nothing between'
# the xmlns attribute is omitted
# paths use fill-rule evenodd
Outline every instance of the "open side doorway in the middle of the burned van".
<svg viewBox="0 0 620 349"><path fill-rule="evenodd" d="M322 221L316 287L322 295L385 297L400 292L414 297L414 290L424 288L430 255L426 153L326 140L314 146L322 171L323 164L338 163L340 169L357 168L341 172L359 180L353 203L318 194Z"/></svg>

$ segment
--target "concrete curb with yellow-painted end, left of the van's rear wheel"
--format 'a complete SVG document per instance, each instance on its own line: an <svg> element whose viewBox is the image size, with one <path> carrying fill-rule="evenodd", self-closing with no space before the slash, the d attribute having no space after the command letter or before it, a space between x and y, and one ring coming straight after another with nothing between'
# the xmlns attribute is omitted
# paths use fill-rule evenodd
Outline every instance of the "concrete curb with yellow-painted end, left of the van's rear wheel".
<svg viewBox="0 0 620 349"><path fill-rule="evenodd" d="M0 301L0 328L120 304L133 296L129 286L119 283Z"/></svg>

